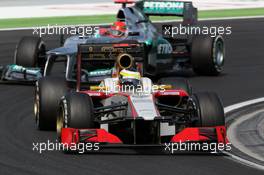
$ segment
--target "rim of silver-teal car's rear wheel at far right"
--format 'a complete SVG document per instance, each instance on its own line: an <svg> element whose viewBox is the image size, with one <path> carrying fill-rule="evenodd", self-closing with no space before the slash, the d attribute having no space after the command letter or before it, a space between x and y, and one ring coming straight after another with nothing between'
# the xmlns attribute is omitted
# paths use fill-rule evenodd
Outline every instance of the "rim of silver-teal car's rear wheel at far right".
<svg viewBox="0 0 264 175"><path fill-rule="evenodd" d="M221 37L215 39L213 55L215 68L220 72L224 65L224 42Z"/></svg>

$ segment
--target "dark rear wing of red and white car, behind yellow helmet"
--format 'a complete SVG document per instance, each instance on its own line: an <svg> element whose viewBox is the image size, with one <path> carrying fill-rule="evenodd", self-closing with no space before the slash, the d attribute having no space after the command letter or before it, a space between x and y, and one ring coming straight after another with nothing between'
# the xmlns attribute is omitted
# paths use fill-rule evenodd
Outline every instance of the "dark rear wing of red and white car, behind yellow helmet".
<svg viewBox="0 0 264 175"><path fill-rule="evenodd" d="M113 68L115 64L122 64L121 57L128 58L131 63L145 64L145 44L137 42L126 43L91 43L79 44L77 53L77 90L81 89L81 71L88 70L90 65L96 68ZM88 67L85 67L88 66ZM87 69L88 68L88 69Z"/></svg>

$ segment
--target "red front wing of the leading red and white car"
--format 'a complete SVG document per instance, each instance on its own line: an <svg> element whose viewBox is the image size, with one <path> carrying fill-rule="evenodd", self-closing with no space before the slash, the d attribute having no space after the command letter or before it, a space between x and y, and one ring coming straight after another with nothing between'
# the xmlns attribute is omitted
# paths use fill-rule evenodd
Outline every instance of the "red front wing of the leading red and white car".
<svg viewBox="0 0 264 175"><path fill-rule="evenodd" d="M175 134L174 136L171 136L170 142L168 143L156 143L145 145L125 144L120 138L107 132L104 129L62 128L61 143L67 146L79 143L99 143L100 148L165 148L168 146L172 146L172 144L179 143L216 143L226 145L229 142L226 137L225 126L216 126L185 128L181 132Z"/></svg>

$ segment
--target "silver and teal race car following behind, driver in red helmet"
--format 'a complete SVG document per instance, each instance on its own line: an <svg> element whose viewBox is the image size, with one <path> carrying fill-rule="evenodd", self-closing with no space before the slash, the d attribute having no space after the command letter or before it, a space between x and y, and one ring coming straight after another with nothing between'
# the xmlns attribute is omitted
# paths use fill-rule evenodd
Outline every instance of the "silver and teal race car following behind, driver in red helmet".
<svg viewBox="0 0 264 175"><path fill-rule="evenodd" d="M195 26L197 9L192 2L116 0L115 3L121 3L122 7L113 25L98 27L93 35L63 39L62 47L46 51L41 38L22 38L15 52L15 64L39 67L44 75L48 75L51 70L47 61L60 60L58 62L64 63L59 66L59 71L67 80L74 80L76 64L72 63L77 58L77 46L86 44L89 45L87 56L98 60L98 63L88 67L88 72L100 74L103 70L106 73L102 78L91 78L91 81L100 82L108 74L111 75L109 71L114 66L113 61L107 60L115 60L123 54L142 64L142 74L150 78L172 75L179 69L193 69L198 75L209 76L223 71L225 44L222 36L169 37L165 32L159 32L150 20L150 16L175 16L183 18L182 25Z"/></svg>

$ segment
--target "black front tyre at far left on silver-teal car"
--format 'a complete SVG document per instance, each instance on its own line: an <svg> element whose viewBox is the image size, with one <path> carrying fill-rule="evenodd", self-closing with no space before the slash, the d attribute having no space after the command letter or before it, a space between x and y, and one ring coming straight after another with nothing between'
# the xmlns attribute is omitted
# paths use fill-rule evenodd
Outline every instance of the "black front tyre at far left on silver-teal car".
<svg viewBox="0 0 264 175"><path fill-rule="evenodd" d="M23 37L15 51L14 64L24 67L45 66L46 46L39 37Z"/></svg>

